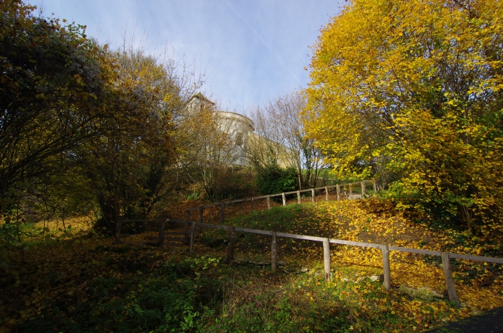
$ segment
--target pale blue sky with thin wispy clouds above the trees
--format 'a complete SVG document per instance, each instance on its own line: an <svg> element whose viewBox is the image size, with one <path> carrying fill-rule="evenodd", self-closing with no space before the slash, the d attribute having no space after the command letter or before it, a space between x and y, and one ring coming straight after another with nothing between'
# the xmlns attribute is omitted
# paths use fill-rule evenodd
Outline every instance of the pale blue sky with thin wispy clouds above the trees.
<svg viewBox="0 0 503 333"><path fill-rule="evenodd" d="M168 46L205 74L203 93L243 112L309 82L311 46L340 12L336 0L29 0L44 16L87 26L118 46L126 34L147 50Z"/></svg>

